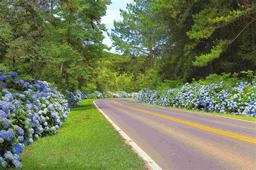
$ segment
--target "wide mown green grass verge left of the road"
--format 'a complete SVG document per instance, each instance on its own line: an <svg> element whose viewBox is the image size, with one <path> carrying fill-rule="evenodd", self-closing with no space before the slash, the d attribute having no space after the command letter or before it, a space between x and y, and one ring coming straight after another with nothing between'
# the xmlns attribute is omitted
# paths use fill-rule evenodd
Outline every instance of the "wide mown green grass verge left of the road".
<svg viewBox="0 0 256 170"><path fill-rule="evenodd" d="M84 100L54 136L26 146L24 169L145 169L144 161L125 144L93 100Z"/></svg>

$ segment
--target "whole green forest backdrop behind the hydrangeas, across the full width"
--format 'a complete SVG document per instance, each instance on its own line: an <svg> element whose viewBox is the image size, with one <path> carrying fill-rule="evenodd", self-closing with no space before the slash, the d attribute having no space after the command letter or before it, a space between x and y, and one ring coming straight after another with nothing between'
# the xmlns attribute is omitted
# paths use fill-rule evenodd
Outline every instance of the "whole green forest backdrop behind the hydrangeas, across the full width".
<svg viewBox="0 0 256 170"><path fill-rule="evenodd" d="M255 1L136 0L108 31L104 1L2 1L0 67L65 90L128 92L255 79Z"/></svg>

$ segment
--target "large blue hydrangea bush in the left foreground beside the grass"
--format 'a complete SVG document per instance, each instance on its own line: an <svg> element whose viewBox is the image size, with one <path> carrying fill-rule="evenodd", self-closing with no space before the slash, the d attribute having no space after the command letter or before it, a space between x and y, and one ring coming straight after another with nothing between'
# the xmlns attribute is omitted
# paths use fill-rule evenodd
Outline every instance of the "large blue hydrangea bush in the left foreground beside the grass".
<svg viewBox="0 0 256 170"><path fill-rule="evenodd" d="M68 101L50 83L0 73L0 167L21 168L23 147L55 134L69 112Z"/></svg>

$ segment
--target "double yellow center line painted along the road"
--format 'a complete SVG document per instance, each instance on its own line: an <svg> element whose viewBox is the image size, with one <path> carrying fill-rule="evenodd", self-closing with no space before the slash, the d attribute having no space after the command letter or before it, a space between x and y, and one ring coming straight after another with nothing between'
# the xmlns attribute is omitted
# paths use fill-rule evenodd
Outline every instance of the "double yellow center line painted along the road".
<svg viewBox="0 0 256 170"><path fill-rule="evenodd" d="M113 100L112 100L112 102L116 103L116 104L118 104L118 105L120 105L122 107L125 107L125 108L129 108L129 109L145 112L147 114L151 114L151 115L158 116L158 117L163 117L163 118L169 119L169 120L174 121L174 122L183 123L183 124L186 124L186 125L194 126L196 128L199 128L199 129L203 129L203 130L210 131L210 132L213 132L213 133L222 134L224 136L228 136L228 137L231 137L231 138L240 139L240 140L244 140L244 141L248 141L250 143L256 144L256 139L254 139L254 138L250 138L250 137L246 137L246 136L241 136L239 134L230 133L230 132L226 132L226 131L221 131L221 130L218 130L218 129L213 129L213 128L210 128L208 126L204 126L204 125L200 125L200 124L196 124L196 123L192 123L192 122L183 121L181 119L177 119L177 118L173 118L173 117L157 114L157 113L151 112L151 111L146 111L146 110L142 110L142 109L138 109L138 108L129 107L127 105L117 103L116 101L113 101Z"/></svg>

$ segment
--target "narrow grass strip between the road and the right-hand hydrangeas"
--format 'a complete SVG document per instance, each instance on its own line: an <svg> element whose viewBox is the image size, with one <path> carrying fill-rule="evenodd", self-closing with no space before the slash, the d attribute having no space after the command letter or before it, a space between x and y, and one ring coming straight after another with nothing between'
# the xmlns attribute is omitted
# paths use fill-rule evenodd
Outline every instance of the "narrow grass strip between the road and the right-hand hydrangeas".
<svg viewBox="0 0 256 170"><path fill-rule="evenodd" d="M198 112L199 114L215 115L215 116L223 116L223 117L232 117L232 118L236 118L236 119L242 119L242 120L246 120L246 121L256 122L256 118L252 118L250 116L232 115L232 114L219 114L219 113L214 113L214 112L204 112L204 111L196 111L196 110L187 110L187 109L179 109L179 108L172 108L172 107L164 107L162 105L142 103L142 102L137 102L137 101L134 101L134 100L131 100L131 102L145 104L145 105L151 105L151 106L160 107L160 108L169 108L169 109L176 109L176 110L183 110L183 111Z"/></svg>

